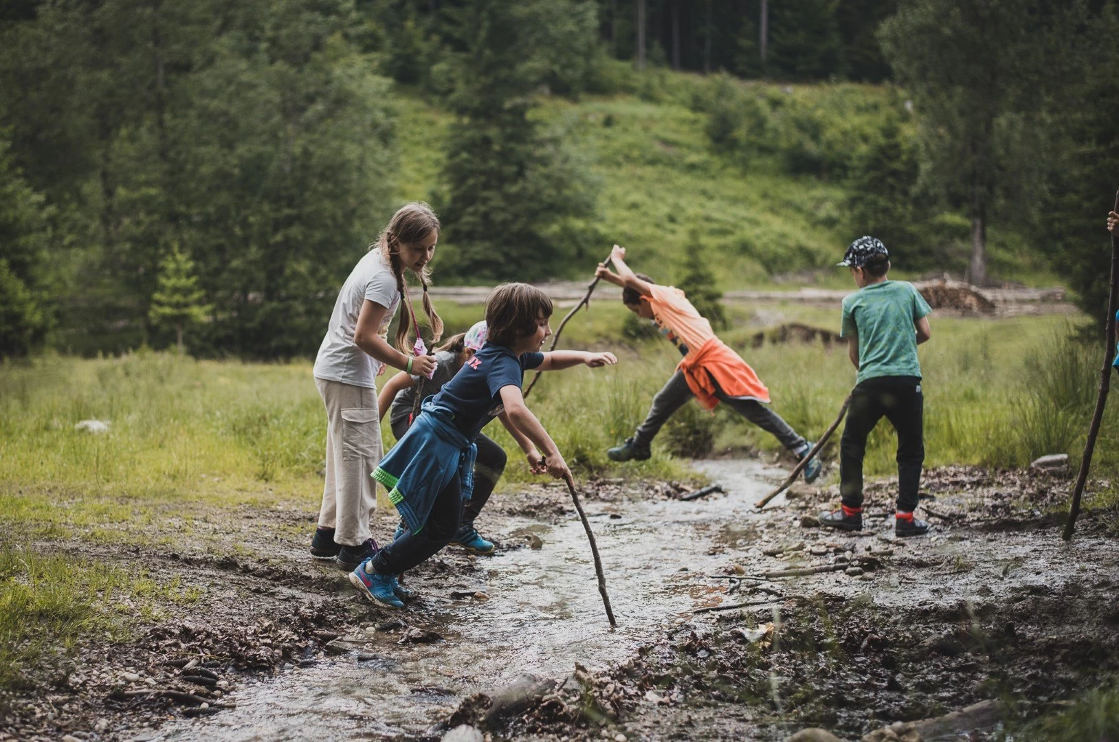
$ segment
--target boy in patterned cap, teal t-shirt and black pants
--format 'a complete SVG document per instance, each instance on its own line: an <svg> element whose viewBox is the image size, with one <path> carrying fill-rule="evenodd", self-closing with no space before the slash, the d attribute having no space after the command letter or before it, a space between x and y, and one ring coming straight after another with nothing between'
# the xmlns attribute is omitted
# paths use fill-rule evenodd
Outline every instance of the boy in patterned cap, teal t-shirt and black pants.
<svg viewBox="0 0 1119 742"><path fill-rule="evenodd" d="M931 337L928 314L932 310L912 283L886 279L890 253L880 239L859 237L839 265L850 269L859 289L843 300L840 328L858 376L839 442L843 505L821 515L820 524L863 529L863 455L867 436L885 416L897 431L894 533L919 536L929 530L929 524L913 517L924 463L924 397L916 347Z"/></svg>

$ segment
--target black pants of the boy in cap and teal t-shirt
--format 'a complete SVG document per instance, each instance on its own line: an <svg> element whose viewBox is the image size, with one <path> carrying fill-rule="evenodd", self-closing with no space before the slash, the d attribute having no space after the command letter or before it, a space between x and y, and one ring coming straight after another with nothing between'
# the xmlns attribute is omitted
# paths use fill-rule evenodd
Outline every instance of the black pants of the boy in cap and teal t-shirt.
<svg viewBox="0 0 1119 742"><path fill-rule="evenodd" d="M897 431L897 509L916 509L924 463L924 395L918 376L880 376L855 387L839 441L839 495L850 508L863 506L866 439L883 416Z"/></svg>

